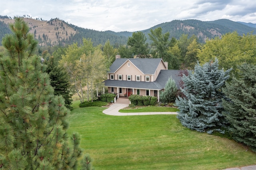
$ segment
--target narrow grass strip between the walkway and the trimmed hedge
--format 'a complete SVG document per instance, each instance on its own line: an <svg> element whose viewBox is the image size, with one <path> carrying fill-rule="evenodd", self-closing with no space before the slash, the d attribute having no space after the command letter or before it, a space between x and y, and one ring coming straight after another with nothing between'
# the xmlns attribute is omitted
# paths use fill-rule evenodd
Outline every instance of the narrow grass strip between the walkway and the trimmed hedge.
<svg viewBox="0 0 256 170"><path fill-rule="evenodd" d="M138 109L121 109L119 112L121 113L136 113L136 112L177 112L179 109L174 107L142 107Z"/></svg>

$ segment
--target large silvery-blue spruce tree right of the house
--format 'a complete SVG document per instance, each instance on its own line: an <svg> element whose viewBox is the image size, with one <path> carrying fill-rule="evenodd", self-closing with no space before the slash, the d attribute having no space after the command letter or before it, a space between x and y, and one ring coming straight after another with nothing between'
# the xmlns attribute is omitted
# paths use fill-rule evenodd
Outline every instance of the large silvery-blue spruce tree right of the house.
<svg viewBox="0 0 256 170"><path fill-rule="evenodd" d="M230 70L218 69L218 60L197 65L194 71L183 75L185 97L178 97L176 104L180 109L178 119L183 126L192 130L205 130L221 127L225 124L222 115L222 87L229 78ZM209 133L211 131L208 131Z"/></svg>

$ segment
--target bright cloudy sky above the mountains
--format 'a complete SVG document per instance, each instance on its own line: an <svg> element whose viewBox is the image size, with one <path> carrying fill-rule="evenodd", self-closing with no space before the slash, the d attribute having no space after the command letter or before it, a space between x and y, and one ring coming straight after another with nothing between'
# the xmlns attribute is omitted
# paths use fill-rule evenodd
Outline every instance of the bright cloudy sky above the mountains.
<svg viewBox="0 0 256 170"><path fill-rule="evenodd" d="M141 31L172 20L256 24L256 0L0 0L0 15L60 18L98 31Z"/></svg>

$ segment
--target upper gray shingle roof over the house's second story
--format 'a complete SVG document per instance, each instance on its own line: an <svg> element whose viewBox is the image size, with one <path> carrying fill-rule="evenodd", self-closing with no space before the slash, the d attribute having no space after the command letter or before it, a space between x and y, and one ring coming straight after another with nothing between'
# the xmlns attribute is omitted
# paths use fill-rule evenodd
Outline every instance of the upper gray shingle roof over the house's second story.
<svg viewBox="0 0 256 170"><path fill-rule="evenodd" d="M127 60L134 64L144 74L154 74L161 58L118 58L110 66L110 73L115 73Z"/></svg>

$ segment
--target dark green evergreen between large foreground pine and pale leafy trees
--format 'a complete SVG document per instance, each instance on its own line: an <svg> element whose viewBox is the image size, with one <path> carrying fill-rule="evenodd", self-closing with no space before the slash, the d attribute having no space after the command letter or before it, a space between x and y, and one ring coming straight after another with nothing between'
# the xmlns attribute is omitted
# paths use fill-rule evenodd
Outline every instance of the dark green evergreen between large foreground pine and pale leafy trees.
<svg viewBox="0 0 256 170"><path fill-rule="evenodd" d="M50 57L46 61L48 73L51 79L51 86L54 87L54 95L62 95L65 99L65 106L71 109L72 93L70 91L71 85L68 81L68 74L63 68L58 66L58 63L54 60L54 57Z"/></svg>

